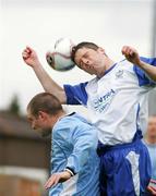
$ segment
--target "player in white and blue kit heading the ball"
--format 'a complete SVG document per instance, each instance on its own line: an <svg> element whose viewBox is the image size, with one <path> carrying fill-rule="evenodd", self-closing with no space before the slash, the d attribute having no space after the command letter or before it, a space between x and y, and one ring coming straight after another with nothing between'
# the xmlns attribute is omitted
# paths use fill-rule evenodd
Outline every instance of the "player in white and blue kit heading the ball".
<svg viewBox="0 0 156 196"><path fill-rule="evenodd" d="M36 52L26 48L24 61L31 65L45 90L61 103L84 105L98 128L101 195L142 195L151 179L151 161L142 144L146 130L147 95L156 85L156 59L140 58L135 49L123 47L125 59L115 63L93 42L73 48L77 66L96 77L75 86L58 86L43 69Z"/></svg>

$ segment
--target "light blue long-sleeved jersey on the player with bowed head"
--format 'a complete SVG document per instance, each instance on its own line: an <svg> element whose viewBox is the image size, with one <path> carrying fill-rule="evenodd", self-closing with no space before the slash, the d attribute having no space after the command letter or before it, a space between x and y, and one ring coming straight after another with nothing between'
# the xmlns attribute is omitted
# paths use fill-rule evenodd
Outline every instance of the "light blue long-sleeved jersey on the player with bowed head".
<svg viewBox="0 0 156 196"><path fill-rule="evenodd" d="M76 113L60 119L52 130L51 173L70 169L74 176L49 191L49 196L99 196L97 131Z"/></svg>

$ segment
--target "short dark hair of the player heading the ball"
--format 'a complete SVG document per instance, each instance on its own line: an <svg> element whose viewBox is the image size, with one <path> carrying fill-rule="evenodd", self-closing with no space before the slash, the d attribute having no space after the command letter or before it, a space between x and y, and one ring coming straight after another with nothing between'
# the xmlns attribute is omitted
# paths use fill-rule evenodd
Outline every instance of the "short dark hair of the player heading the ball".
<svg viewBox="0 0 156 196"><path fill-rule="evenodd" d="M79 45L76 45L72 48L71 58L72 58L73 62L75 62L74 59L75 59L76 51L81 48L91 48L93 50L97 50L99 47L97 45L95 45L94 42L85 42L85 41L80 42Z"/></svg>

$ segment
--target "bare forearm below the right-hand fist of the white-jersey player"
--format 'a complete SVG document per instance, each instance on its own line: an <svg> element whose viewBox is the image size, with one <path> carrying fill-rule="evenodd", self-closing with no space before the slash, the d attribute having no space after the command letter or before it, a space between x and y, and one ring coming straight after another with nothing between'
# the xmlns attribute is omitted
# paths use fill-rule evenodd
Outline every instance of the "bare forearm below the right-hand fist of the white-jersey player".
<svg viewBox="0 0 156 196"><path fill-rule="evenodd" d="M147 64L143 61L140 61L137 64L144 72L153 79L156 82L156 66L153 66L151 64Z"/></svg>

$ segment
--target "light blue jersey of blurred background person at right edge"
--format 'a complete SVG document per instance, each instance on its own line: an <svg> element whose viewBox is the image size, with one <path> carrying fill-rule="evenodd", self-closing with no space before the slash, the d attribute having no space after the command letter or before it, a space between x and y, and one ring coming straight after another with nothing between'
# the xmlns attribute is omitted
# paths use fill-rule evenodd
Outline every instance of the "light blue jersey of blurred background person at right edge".
<svg viewBox="0 0 156 196"><path fill-rule="evenodd" d="M148 144L144 142L151 157L152 162L152 179L156 181L156 144Z"/></svg>

